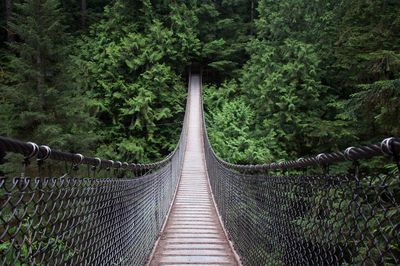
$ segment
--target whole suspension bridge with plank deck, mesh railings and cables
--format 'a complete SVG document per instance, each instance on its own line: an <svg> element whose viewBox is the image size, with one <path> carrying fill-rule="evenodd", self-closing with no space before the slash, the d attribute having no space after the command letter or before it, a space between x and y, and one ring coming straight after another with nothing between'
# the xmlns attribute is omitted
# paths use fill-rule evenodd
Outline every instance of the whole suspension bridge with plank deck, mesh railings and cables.
<svg viewBox="0 0 400 266"><path fill-rule="evenodd" d="M190 75L180 140L159 162L0 137L0 154L19 154L25 165L16 177L0 173L1 265L400 264L399 138L231 164L209 143L201 84ZM73 167L29 177L31 160ZM371 160L385 167L364 171ZM77 176L83 165L88 174ZM100 169L106 177L94 176Z"/></svg>

